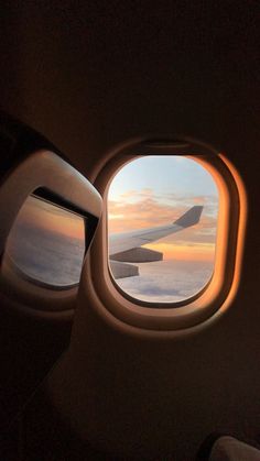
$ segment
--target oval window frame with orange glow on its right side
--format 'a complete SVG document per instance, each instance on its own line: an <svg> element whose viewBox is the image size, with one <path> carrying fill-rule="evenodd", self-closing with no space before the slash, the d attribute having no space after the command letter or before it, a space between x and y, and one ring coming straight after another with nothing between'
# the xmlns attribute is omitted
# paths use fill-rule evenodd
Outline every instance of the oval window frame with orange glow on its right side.
<svg viewBox="0 0 260 461"><path fill-rule="evenodd" d="M87 295L95 295L95 306L107 319L134 329L176 334L201 328L221 315L230 305L239 281L242 243L246 228L247 199L236 168L217 150L193 140L130 141L110 153L110 158L97 174L94 185L107 204L107 193L117 171L140 155L185 155L201 163L213 175L219 190L215 271L205 289L180 308L151 309L120 293L108 267L107 213L104 213L96 241L87 260L91 283L85 281ZM97 264L98 261L98 264ZM101 276L100 276L101 273ZM112 317L111 317L112 316Z"/></svg>

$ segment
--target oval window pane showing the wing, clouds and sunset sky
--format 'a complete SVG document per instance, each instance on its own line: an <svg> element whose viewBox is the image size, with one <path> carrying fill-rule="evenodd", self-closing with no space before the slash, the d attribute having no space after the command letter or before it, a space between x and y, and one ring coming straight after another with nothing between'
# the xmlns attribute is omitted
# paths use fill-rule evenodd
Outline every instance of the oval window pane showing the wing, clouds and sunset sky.
<svg viewBox="0 0 260 461"><path fill-rule="evenodd" d="M136 299L176 303L214 272L218 190L184 156L145 156L124 165L108 193L110 272ZM154 306L156 307L156 306Z"/></svg>

